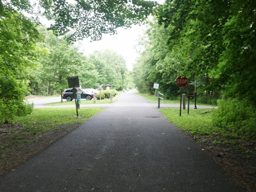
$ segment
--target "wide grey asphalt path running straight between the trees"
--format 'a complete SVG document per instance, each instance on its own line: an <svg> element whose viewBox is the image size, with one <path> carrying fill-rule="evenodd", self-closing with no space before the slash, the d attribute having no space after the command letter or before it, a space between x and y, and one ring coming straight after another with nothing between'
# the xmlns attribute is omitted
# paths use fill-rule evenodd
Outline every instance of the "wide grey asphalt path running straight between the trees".
<svg viewBox="0 0 256 192"><path fill-rule="evenodd" d="M1 175L0 191L245 190L156 107L127 92Z"/></svg>

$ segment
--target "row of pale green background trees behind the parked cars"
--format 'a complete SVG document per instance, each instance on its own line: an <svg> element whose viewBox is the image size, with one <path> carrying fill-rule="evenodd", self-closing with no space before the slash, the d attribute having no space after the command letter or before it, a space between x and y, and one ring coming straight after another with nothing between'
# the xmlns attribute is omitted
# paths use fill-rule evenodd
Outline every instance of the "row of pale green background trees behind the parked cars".
<svg viewBox="0 0 256 192"><path fill-rule="evenodd" d="M45 27L38 28L43 42L38 42L41 57L37 70L30 78L31 94L52 95L67 88L67 77L78 76L82 88L95 88L111 84L113 89L122 90L129 86L128 71L122 55L113 50L95 51L86 57L68 36L59 38Z"/></svg>

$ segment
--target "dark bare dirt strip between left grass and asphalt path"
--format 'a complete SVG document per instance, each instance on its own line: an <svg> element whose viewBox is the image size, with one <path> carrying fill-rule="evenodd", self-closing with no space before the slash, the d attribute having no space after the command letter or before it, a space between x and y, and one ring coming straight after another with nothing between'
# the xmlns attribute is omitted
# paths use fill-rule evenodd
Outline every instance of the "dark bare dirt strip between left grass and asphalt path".
<svg viewBox="0 0 256 192"><path fill-rule="evenodd" d="M0 174L12 170L79 125L63 124L58 129L33 134L22 129L20 124L4 124L0 127Z"/></svg>

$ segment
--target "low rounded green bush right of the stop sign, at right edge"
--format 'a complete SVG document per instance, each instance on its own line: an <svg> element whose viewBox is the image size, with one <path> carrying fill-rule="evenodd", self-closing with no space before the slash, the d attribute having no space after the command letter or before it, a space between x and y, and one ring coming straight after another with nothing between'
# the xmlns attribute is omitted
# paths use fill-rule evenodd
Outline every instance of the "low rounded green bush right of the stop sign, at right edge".
<svg viewBox="0 0 256 192"><path fill-rule="evenodd" d="M218 100L218 109L213 113L213 124L244 137L255 138L256 110L249 101Z"/></svg>

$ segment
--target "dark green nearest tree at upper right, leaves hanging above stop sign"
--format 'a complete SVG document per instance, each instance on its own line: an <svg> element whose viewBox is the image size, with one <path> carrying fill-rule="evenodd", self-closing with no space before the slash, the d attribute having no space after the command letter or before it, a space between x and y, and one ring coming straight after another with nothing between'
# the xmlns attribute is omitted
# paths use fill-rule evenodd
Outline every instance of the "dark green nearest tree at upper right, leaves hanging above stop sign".
<svg viewBox="0 0 256 192"><path fill-rule="evenodd" d="M166 1L158 21L172 27L169 49L182 55L182 73L209 77L204 89L255 105L255 7L252 0Z"/></svg>

